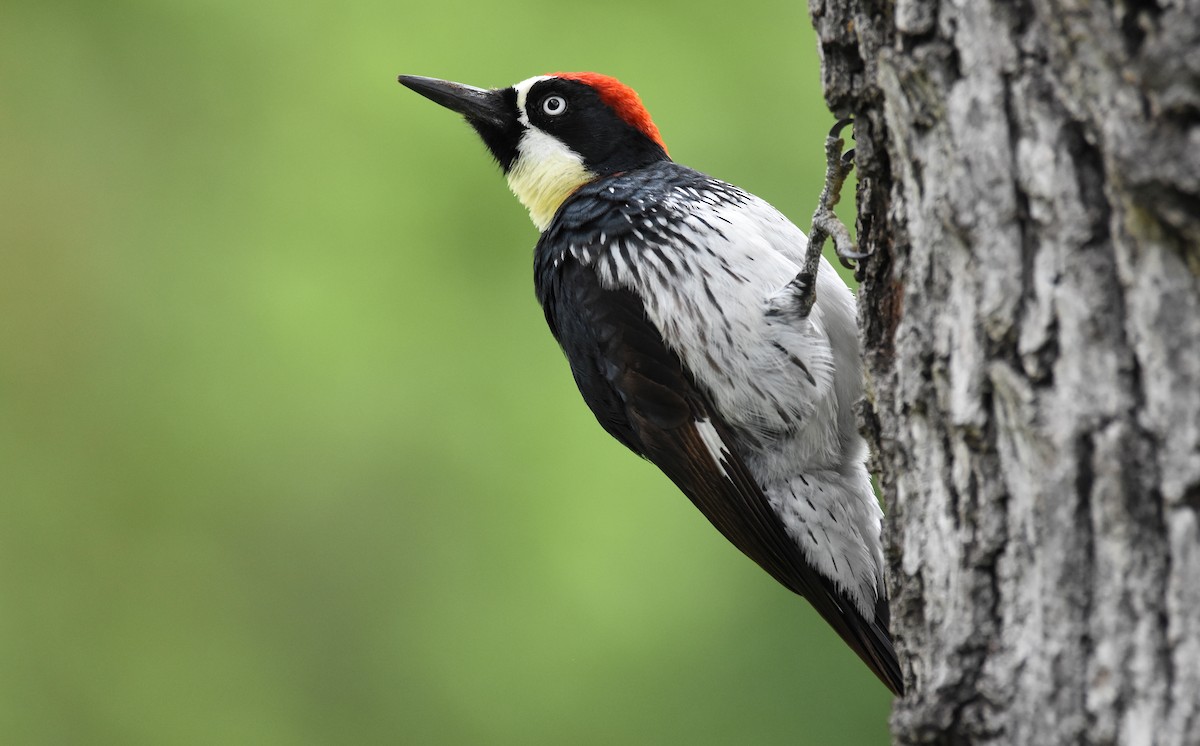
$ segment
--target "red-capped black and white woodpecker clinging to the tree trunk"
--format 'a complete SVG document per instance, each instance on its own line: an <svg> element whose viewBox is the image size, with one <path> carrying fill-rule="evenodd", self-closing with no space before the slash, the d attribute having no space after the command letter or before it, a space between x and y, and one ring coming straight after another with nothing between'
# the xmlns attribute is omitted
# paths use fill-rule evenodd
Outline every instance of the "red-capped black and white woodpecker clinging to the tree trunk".
<svg viewBox="0 0 1200 746"><path fill-rule="evenodd" d="M538 300L601 427L902 693L853 411L854 301L820 248L806 255L764 200L674 163L607 76L400 82L464 116L529 210Z"/></svg>

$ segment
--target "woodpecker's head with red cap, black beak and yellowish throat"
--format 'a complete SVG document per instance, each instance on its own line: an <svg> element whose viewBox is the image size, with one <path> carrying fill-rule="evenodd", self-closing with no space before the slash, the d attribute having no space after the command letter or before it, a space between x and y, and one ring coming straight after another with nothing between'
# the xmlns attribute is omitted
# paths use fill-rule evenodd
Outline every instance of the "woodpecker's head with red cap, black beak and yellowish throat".
<svg viewBox="0 0 1200 746"><path fill-rule="evenodd" d="M539 230L582 185L668 158L641 98L616 78L560 72L492 90L418 76L400 82L467 119Z"/></svg>

